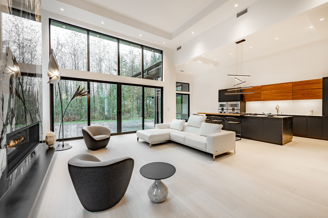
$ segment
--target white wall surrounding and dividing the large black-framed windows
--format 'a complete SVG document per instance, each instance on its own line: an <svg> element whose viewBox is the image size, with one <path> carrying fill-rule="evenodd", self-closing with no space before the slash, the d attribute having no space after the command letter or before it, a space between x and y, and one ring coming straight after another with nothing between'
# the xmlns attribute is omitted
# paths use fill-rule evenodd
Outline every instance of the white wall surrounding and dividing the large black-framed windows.
<svg viewBox="0 0 328 218"><path fill-rule="evenodd" d="M49 61L49 18L162 50L163 51L163 81L151 81L145 79L105 75L105 74L98 74L96 72L63 69L63 68L60 68L61 76L163 87L163 92L164 92L163 93L163 97L164 97L163 121L170 122L172 121L172 119L176 117L176 97L175 97L176 69L175 66L173 65L172 49L160 47L158 45L151 44L140 39L129 37L117 32L113 32L111 30L99 28L94 25L87 24L78 20L74 20L68 17L64 17L58 14L54 14L45 10L41 11L41 15L42 15L42 76L43 76L42 88L43 88L43 135L44 136L47 132L50 131L49 84L47 84L49 79L47 77L48 61Z"/></svg>

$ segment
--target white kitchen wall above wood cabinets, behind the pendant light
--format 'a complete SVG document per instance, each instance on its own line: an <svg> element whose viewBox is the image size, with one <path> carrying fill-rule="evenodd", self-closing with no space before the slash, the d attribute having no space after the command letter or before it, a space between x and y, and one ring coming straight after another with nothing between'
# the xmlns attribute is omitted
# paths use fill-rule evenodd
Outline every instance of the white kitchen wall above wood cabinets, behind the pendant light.
<svg viewBox="0 0 328 218"><path fill-rule="evenodd" d="M245 79L245 86L327 77L327 60L328 40L245 61L243 74L251 75L250 78ZM235 74L235 70L235 64L231 64L207 74L194 76L194 112L217 111L218 90L235 85L234 78L227 76Z"/></svg>

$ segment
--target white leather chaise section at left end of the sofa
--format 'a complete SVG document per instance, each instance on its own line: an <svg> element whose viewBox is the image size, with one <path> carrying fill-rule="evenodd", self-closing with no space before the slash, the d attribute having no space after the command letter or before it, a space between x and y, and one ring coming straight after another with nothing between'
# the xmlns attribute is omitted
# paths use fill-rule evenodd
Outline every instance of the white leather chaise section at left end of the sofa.
<svg viewBox="0 0 328 218"><path fill-rule="evenodd" d="M164 141L170 140L170 133L171 132L179 132L176 129L145 129L145 130L138 130L137 137L141 138L142 140L148 141L149 143L155 141Z"/></svg>

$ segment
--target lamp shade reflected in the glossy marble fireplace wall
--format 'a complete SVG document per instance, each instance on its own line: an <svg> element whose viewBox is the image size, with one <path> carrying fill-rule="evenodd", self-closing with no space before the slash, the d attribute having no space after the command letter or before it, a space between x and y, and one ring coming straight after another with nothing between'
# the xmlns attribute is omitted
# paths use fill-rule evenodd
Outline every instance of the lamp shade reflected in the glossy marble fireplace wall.
<svg viewBox="0 0 328 218"><path fill-rule="evenodd" d="M6 54L4 54L4 66L5 74L10 74L10 78L21 78L21 69L12 50L9 47L6 48Z"/></svg>

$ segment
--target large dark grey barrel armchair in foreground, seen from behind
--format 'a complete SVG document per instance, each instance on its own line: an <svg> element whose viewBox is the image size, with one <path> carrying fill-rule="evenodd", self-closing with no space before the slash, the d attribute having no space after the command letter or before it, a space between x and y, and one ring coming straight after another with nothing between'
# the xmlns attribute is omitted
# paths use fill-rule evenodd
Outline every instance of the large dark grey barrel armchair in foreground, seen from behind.
<svg viewBox="0 0 328 218"><path fill-rule="evenodd" d="M123 198L133 172L129 157L100 161L93 155L80 154L68 161L74 189L82 206L90 212L113 208Z"/></svg>

